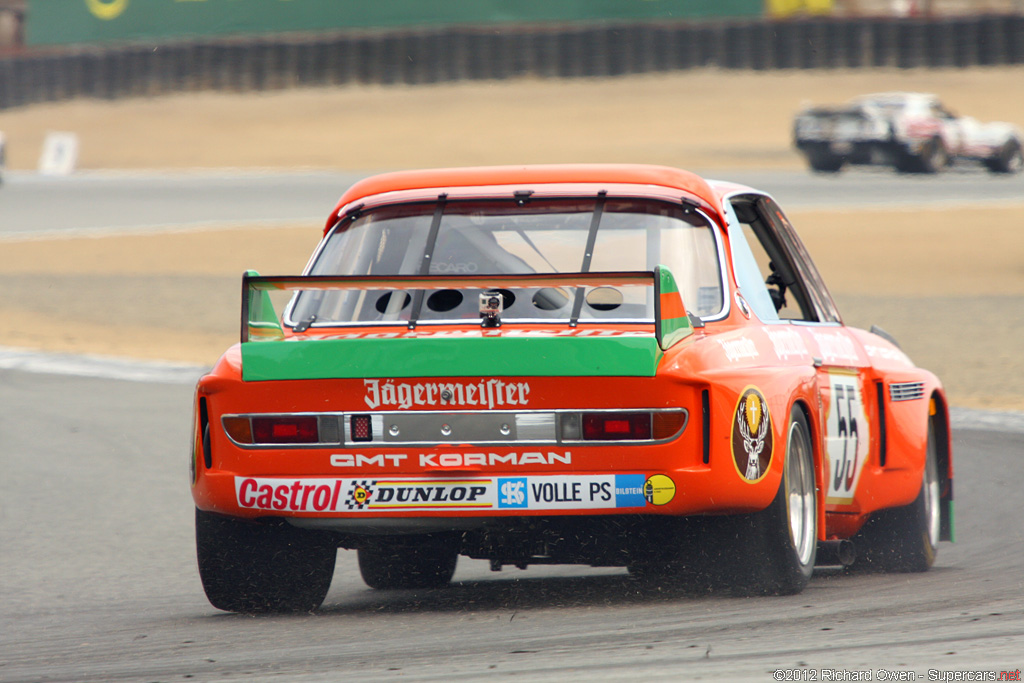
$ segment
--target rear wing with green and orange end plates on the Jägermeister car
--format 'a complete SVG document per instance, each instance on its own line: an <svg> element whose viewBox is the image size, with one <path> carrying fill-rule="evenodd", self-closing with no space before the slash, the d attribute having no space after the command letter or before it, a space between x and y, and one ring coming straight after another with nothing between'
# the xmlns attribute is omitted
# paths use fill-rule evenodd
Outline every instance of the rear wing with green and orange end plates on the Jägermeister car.
<svg viewBox="0 0 1024 683"><path fill-rule="evenodd" d="M516 290L534 288L565 288L574 290L572 309L567 321L574 328L580 319L583 294L586 288L598 287L650 287L653 288L654 336L662 350L702 327L700 319L691 316L683 305L675 278L665 266L653 271L522 273L492 275L287 275L262 276L250 270L242 278L242 334L243 344L251 342L282 341L286 338L281 317L270 299L271 292L302 291L398 291L413 297L413 313L408 321L410 329L418 323L418 308L422 306L427 290ZM467 323L469 321L466 321ZM374 327L377 322L365 322L362 327ZM346 324L345 327L351 327ZM313 337L314 339L314 337Z"/></svg>

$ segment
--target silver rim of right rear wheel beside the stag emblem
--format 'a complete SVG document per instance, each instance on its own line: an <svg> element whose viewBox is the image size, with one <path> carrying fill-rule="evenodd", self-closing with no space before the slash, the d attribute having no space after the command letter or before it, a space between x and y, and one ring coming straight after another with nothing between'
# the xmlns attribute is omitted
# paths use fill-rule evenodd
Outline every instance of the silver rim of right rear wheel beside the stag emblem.
<svg viewBox="0 0 1024 683"><path fill-rule="evenodd" d="M790 424L786 438L784 484L790 539L793 541L798 561L805 566L812 563L817 543L814 464L808 443L803 423L794 420ZM938 492L937 485L936 492ZM937 502L936 509L938 509Z"/></svg>

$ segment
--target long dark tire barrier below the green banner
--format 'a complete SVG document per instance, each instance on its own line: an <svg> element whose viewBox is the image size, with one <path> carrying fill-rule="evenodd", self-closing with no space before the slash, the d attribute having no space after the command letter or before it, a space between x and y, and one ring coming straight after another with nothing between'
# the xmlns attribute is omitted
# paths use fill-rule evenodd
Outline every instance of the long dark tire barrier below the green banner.
<svg viewBox="0 0 1024 683"><path fill-rule="evenodd" d="M723 69L1024 63L1024 15L502 27L82 47L0 58L0 109L74 97Z"/></svg>

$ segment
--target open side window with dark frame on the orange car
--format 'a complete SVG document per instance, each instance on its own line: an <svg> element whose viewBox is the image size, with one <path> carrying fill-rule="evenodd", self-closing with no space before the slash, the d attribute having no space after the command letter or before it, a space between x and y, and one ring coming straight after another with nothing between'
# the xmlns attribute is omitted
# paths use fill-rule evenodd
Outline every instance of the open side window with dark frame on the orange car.
<svg viewBox="0 0 1024 683"><path fill-rule="evenodd" d="M791 257L788 245L769 219L767 198L749 195L732 201L732 208L773 307L782 319L817 322L817 310L801 273ZM764 316L762 316L764 317Z"/></svg>

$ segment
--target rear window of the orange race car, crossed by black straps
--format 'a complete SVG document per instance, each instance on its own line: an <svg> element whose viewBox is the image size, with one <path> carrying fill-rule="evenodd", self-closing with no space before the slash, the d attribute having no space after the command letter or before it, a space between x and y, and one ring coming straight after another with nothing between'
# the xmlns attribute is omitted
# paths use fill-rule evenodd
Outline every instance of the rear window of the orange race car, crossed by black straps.
<svg viewBox="0 0 1024 683"><path fill-rule="evenodd" d="M593 244L591 251L588 245ZM668 266L686 307L722 312L719 245L708 219L683 206L597 198L452 201L369 211L330 234L310 275L523 274ZM574 290L508 289L504 323L568 321ZM302 292L286 324L408 323L412 292ZM580 322L653 319L649 287L587 288ZM475 319L475 292L427 290L417 324Z"/></svg>

